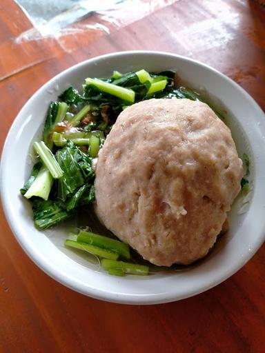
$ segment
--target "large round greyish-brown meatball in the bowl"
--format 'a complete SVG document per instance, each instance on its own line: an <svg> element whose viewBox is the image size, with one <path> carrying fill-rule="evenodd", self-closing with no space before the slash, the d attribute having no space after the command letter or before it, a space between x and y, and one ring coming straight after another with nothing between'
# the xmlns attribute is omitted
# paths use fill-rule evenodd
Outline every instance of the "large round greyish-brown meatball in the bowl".
<svg viewBox="0 0 265 353"><path fill-rule="evenodd" d="M96 168L99 219L155 265L188 264L216 241L242 161L208 105L150 99L117 119Z"/></svg>

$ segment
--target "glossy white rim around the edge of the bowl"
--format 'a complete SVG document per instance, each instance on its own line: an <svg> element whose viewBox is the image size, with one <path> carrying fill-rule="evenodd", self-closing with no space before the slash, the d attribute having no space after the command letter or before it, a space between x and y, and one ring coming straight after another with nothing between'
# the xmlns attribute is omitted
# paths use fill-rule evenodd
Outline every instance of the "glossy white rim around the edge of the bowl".
<svg viewBox="0 0 265 353"><path fill-rule="evenodd" d="M46 90L48 86L50 86L52 83L55 83L58 81L61 77L63 77L66 74L69 74L70 72L74 72L75 70L79 70L83 66L88 65L88 63L92 63L93 61L99 61L102 59L109 59L111 57L122 57L126 55L159 55L161 57L166 56L166 57L173 57L175 59L181 59L183 61L189 61L192 63L195 63L197 65L200 65L212 72L215 72L218 76L223 77L223 79L226 79L230 82L231 85L233 85L234 88L239 90L241 94L244 95L245 99L247 99L253 108L257 110L257 112L261 115L264 115L264 112L262 109L259 107L259 105L255 102L255 100L248 94L242 87L240 87L235 81L227 77L226 75L222 74L222 72L219 72L215 68L210 67L209 65L206 65L205 63L202 63L200 61L197 61L195 59L190 59L188 57L184 57L182 55L178 54L173 54L170 52L161 52L161 51L156 51L156 50L130 50L130 51L121 51L121 52L114 52L110 54L104 54L104 55L99 55L97 57L92 57L86 61L81 61L80 63L77 63L75 65L72 65L70 68L67 68L66 70L63 70L62 72L59 72L55 77L41 85L41 87L35 92L35 94L32 95L32 97L23 105L19 113L17 114L17 117L14 119L12 122L12 125L10 127L10 130L7 134L6 141L3 145L3 151L2 151L2 156L1 156L1 165L0 165L0 192L1 192L1 201L3 205L3 212L6 216L6 219L8 221L8 224L12 230L12 233L16 237L17 241L21 245L21 248L28 254L30 259L39 267L43 272L46 272L49 276L51 276L53 279L58 281L59 283L66 285L66 287L71 288L72 290L75 290L76 292L79 292L81 294L85 294L88 296L91 296L92 298L95 299L101 299L104 301L110 301L114 303L126 303L126 304L157 304L157 303L168 303L171 301L176 301L176 300L181 300L184 298L188 298L190 296L194 296L195 294L199 294L201 292L204 292L210 288L215 287L215 285L218 285L222 281L226 280L228 277L232 276L242 268L242 266L253 256L253 254L259 249L259 247L262 245L264 239L265 239L265 224L264 224L264 229L261 230L263 232L264 236L260 236L259 242L257 242L255 245L255 248L253 249L253 252L248 252L246 256L242 256L240 261L237 261L237 264L234 265L232 268L230 268L230 272L223 273L222 276L218 276L218 279L215 279L215 281L211 281L211 283L208 284L207 286L204 286L204 288L195 288L194 290L191 290L188 295L180 295L177 296L176 293L168 293L166 296L164 293L161 294L153 294L153 295L142 295L142 294L121 294L117 296L117 293L115 292L105 292L102 290L99 290L97 288L88 288L85 287L84 285L81 285L78 281L76 283L72 283L72 279L68 276L61 276L60 272L57 271L56 268L53 268L49 263L45 260L45 257L39 257L38 254L35 253L35 251L30 248L30 243L27 243L25 239L21 239L21 236L19 234L19 226L17 223L12 219L10 212L8 211L8 192L6 192L4 185L5 185L5 176L4 176L4 168L6 163L8 163L8 145L10 143L10 135L12 134L12 130L16 127L16 123L23 115L23 110L25 110L26 106L30 105L32 101L35 100L35 98L41 93L41 91Z"/></svg>

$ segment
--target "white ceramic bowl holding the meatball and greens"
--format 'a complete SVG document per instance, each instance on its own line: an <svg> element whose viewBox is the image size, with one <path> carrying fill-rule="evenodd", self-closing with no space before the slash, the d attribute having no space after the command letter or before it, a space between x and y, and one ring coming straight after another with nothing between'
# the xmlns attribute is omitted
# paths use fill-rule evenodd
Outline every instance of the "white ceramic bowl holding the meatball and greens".
<svg viewBox="0 0 265 353"><path fill-rule="evenodd" d="M239 201L230 212L230 231L215 250L195 268L184 272L161 271L150 276L110 276L76 252L63 248L63 226L40 232L32 222L30 203L19 189L28 178L32 140L40 136L48 104L68 85L80 88L86 77L108 77L112 70L128 72L173 68L194 88L204 88L217 105L226 108L239 155L251 157L253 192L246 213ZM15 119L1 160L1 197L8 223L23 250L47 274L64 285L97 299L116 303L153 304L193 296L224 281L257 251L265 234L265 119L257 103L232 80L203 63L163 52L118 52L96 57L61 72L43 85ZM248 279L246 278L246 281Z"/></svg>

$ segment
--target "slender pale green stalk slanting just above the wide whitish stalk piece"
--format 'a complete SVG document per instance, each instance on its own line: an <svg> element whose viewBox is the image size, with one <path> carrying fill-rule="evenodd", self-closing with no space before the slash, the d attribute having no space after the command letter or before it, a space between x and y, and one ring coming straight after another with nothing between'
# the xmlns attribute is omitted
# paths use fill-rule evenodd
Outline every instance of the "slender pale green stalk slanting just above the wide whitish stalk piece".
<svg viewBox="0 0 265 353"><path fill-rule="evenodd" d="M52 177L55 179L59 179L63 176L63 170L61 170L55 156L52 154L51 150L46 146L46 144L41 142L34 142L33 147L43 164L46 165L46 168L49 170Z"/></svg>

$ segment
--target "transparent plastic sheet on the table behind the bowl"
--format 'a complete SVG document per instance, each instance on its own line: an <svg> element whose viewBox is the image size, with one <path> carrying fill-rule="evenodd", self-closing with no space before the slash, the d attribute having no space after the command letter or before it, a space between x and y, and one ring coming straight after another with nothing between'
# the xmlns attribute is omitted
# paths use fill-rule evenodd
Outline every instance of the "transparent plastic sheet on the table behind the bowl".
<svg viewBox="0 0 265 353"><path fill-rule="evenodd" d="M102 34L122 28L176 0L3 0L16 34L0 43L0 81ZM3 4L5 5L5 4ZM1 19L0 19L1 20ZM12 52L12 56L10 56Z"/></svg>

